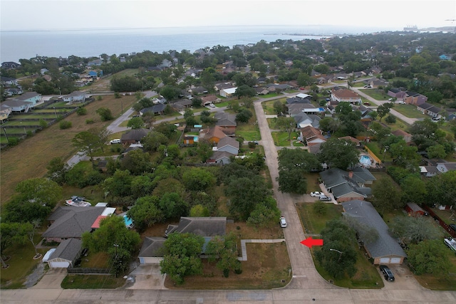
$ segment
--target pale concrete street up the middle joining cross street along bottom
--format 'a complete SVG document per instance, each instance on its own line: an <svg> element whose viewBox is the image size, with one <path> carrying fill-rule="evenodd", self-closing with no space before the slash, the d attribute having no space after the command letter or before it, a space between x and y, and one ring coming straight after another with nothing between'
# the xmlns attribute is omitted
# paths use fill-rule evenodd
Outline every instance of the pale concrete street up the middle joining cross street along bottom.
<svg viewBox="0 0 456 304"><path fill-rule="evenodd" d="M306 235L294 203L302 201L303 197L277 190L277 148L261 106L262 101L272 99L275 98L257 100L254 108L261 132L260 143L264 146L266 164L273 181L274 197L288 222L284 236L293 269L289 285L274 290L167 290L160 289L160 283L155 285L141 281L141 286L133 283L133 286L116 290L63 290L58 280L54 279L56 275L50 273L51 278L43 278L42 283L34 288L1 290L1 303L456 303L455 291L427 290L416 282L405 266L395 268L397 280L394 283L384 281L382 289L338 288L321 278L309 248L300 243Z"/></svg>

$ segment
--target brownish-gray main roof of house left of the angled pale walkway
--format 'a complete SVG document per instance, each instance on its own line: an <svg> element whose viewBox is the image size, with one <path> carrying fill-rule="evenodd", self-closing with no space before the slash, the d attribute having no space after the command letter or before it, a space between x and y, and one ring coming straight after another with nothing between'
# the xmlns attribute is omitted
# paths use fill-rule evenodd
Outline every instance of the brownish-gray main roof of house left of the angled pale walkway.
<svg viewBox="0 0 456 304"><path fill-rule="evenodd" d="M170 225L167 234L178 232L180 234L192 233L198 236L224 236L227 230L227 218L220 217L187 217L180 218L179 225Z"/></svg>

